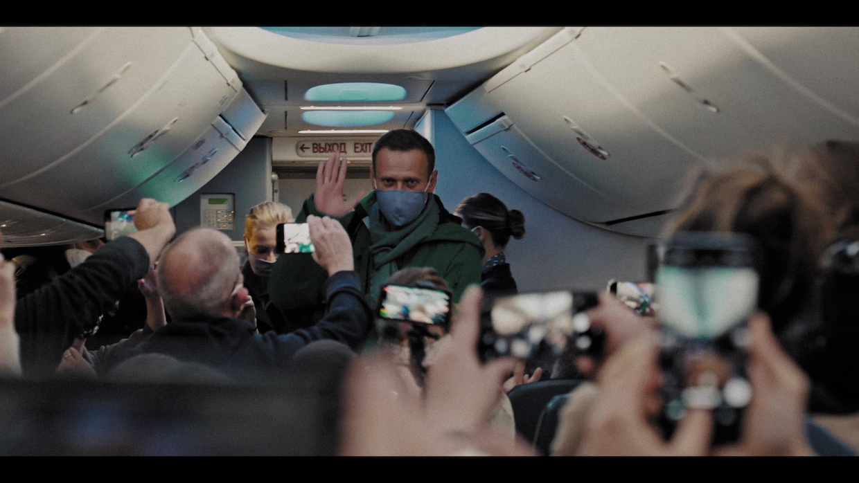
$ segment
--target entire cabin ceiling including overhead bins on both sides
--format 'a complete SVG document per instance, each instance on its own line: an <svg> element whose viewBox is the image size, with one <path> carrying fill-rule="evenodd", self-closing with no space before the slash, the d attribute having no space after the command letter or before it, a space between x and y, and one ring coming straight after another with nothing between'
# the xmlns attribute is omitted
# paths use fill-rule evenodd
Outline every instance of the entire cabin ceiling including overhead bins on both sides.
<svg viewBox="0 0 859 483"><path fill-rule="evenodd" d="M366 163L429 107L539 202L656 236L701 166L856 139L856 45L855 27L0 27L3 246L174 205L255 134L275 165L345 139Z"/></svg>

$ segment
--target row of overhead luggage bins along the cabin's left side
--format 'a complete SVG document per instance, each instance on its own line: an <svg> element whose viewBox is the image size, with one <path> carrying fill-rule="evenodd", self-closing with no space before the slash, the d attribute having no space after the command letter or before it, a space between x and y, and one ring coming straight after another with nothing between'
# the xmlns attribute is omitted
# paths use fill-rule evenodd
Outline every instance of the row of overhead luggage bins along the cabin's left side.
<svg viewBox="0 0 859 483"><path fill-rule="evenodd" d="M23 65L0 74L12 86L0 91L0 199L9 203L95 227L104 209L141 196L173 205L265 119L198 27L13 27L3 36L3 63Z"/></svg>

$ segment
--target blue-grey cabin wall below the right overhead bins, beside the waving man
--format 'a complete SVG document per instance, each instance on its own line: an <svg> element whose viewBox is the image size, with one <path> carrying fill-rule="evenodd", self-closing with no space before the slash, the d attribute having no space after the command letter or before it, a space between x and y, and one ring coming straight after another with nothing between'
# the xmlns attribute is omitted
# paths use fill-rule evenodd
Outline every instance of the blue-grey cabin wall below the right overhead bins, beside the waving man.
<svg viewBox="0 0 859 483"><path fill-rule="evenodd" d="M430 111L416 130L434 142L436 194L448 211L466 196L485 191L525 214L525 238L510 238L505 251L521 292L601 289L612 278L644 279L649 238L590 226L539 202L472 148L442 111Z"/></svg>

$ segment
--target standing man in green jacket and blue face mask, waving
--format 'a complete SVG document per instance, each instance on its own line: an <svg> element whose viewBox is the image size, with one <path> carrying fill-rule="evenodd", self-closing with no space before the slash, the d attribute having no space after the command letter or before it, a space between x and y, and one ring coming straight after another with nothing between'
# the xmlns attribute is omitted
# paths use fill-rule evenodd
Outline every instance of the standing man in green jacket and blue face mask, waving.
<svg viewBox="0 0 859 483"><path fill-rule="evenodd" d="M483 244L460 226L461 220L449 214L433 193L438 171L429 141L413 130L392 130L381 136L373 147L370 167L374 191L360 202L344 196L346 162L335 153L320 163L314 195L304 202L295 222L303 223L308 214L314 214L331 216L343 224L352 239L362 293L371 307L378 302L382 283L399 269L438 270L448 282L454 302L468 285L480 283ZM324 270L310 254L277 258L269 293L272 304L287 314L287 329L320 317L325 279ZM316 307L314 316L309 307Z"/></svg>

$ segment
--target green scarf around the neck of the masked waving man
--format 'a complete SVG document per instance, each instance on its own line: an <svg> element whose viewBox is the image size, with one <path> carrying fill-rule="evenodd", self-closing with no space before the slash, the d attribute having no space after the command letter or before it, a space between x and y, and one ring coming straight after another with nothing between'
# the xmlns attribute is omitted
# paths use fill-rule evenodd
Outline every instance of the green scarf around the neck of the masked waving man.
<svg viewBox="0 0 859 483"><path fill-rule="evenodd" d="M399 270L395 260L430 238L436 232L439 220L439 209L435 196L430 195L430 201L423 207L417 220L412 221L399 230L388 232L385 220L379 210L379 203L373 205L369 215L370 257L372 258L372 274L370 275L369 298L372 307L378 305L382 284Z"/></svg>

